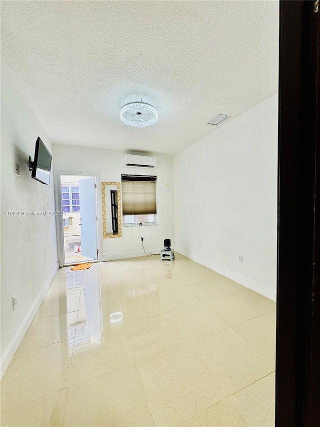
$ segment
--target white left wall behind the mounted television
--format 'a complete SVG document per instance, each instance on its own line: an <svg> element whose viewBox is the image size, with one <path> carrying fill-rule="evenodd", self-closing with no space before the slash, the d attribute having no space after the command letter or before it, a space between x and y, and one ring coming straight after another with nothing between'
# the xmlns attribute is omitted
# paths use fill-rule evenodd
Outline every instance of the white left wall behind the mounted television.
<svg viewBox="0 0 320 427"><path fill-rule="evenodd" d="M32 179L28 169L38 136L51 152L44 130L1 59L1 211L54 211L53 174L47 186ZM15 175L15 163L20 176ZM56 269L54 216L1 215L1 374Z"/></svg>

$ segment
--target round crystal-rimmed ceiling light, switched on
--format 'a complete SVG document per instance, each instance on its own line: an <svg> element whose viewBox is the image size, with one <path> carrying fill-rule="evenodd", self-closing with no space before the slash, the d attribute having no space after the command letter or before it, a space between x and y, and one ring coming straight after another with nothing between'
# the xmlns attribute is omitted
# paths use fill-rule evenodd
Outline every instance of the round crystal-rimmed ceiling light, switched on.
<svg viewBox="0 0 320 427"><path fill-rule="evenodd" d="M120 110L120 119L126 125L137 128L153 125L157 121L158 113L153 105L145 102L130 102Z"/></svg>

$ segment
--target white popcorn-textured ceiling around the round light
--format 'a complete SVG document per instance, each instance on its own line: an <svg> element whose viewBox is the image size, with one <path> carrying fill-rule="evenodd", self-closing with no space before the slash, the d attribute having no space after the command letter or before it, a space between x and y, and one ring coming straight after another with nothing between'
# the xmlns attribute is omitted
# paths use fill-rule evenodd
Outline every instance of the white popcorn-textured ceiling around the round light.
<svg viewBox="0 0 320 427"><path fill-rule="evenodd" d="M1 55L51 142L173 154L276 92L278 2L2 1Z"/></svg>

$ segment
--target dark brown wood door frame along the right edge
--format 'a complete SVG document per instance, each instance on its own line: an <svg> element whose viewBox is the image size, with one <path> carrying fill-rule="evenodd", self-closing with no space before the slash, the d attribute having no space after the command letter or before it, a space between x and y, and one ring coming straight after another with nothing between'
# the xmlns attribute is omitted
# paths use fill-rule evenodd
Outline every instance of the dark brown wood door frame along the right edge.
<svg viewBox="0 0 320 427"><path fill-rule="evenodd" d="M320 425L319 13L280 1L275 423Z"/></svg>

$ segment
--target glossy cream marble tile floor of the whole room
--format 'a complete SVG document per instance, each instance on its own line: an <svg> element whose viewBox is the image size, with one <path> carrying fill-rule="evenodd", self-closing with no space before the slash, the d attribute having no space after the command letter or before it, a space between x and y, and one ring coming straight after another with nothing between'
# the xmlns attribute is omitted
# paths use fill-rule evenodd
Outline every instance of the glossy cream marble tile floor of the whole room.
<svg viewBox="0 0 320 427"><path fill-rule="evenodd" d="M176 254L62 268L1 426L274 425L275 303Z"/></svg>

